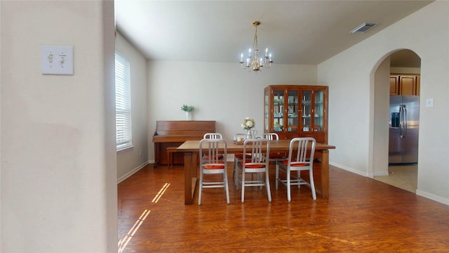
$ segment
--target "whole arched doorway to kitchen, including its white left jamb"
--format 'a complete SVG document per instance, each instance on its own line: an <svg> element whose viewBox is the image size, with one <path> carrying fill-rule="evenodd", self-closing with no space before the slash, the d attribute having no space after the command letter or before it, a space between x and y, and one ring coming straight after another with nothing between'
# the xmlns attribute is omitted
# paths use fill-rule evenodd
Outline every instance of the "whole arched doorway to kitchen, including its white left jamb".
<svg viewBox="0 0 449 253"><path fill-rule="evenodd" d="M390 84L387 87L384 82L386 78L383 76L380 78L381 81L377 79L375 81L375 112L377 112L377 114L375 113L375 122L378 120L380 124L374 126L374 138L377 140L377 153L380 153L380 150L384 152L380 162L377 164L373 162L373 178L415 193L417 189L421 58L415 52L403 49L392 52L379 68L383 68L383 70L376 71L376 73L380 72L380 74L376 74L376 77L388 73ZM387 93L388 90L389 93ZM405 102L407 99L415 100L415 104L411 106L408 104L410 102ZM397 106L394 105L394 101L398 100L400 102L396 104ZM399 114L400 107L407 107L408 118L413 120L400 121L399 115L404 115L403 113ZM408 130L405 137L404 129L406 127ZM376 152L376 148L374 150ZM385 155L387 150L388 156ZM413 155L410 155L412 153Z"/></svg>

